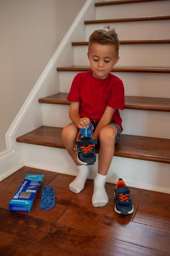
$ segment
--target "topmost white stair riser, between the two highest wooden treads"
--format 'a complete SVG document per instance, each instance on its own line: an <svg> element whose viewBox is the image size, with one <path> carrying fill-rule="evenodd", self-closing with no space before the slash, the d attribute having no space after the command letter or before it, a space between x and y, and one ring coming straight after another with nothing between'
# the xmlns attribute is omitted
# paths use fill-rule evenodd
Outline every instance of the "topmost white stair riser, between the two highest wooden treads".
<svg viewBox="0 0 170 256"><path fill-rule="evenodd" d="M96 20L170 15L170 1L98 6Z"/></svg>

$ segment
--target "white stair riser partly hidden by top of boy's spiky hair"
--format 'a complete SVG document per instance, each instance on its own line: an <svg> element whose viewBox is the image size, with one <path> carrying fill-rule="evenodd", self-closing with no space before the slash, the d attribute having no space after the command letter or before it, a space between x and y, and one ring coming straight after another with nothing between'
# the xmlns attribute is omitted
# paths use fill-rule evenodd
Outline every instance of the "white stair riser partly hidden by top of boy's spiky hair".
<svg viewBox="0 0 170 256"><path fill-rule="evenodd" d="M101 26L115 28L119 40L169 39L170 20L132 21L120 23L100 23L86 25L86 41Z"/></svg>

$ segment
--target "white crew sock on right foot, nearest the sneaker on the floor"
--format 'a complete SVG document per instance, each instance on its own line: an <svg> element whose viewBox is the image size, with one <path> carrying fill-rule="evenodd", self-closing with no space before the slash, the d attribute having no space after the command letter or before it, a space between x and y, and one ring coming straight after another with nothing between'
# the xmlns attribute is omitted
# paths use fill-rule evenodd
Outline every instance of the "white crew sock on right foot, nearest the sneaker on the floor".
<svg viewBox="0 0 170 256"><path fill-rule="evenodd" d="M95 180L94 180L94 192L92 195L92 205L94 207L102 207L105 206L108 201L108 195L105 190L105 182L106 182L107 175L101 175L97 173Z"/></svg>

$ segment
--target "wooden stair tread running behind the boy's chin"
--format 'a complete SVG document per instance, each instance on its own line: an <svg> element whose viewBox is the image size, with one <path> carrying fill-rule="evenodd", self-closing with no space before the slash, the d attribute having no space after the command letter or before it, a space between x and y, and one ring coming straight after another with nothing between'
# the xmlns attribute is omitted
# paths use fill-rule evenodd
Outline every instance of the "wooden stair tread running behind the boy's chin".
<svg viewBox="0 0 170 256"><path fill-rule="evenodd" d="M91 70L88 66L57 67L57 71L86 72ZM118 67L112 68L112 72L139 72L139 73L170 73L170 67Z"/></svg>

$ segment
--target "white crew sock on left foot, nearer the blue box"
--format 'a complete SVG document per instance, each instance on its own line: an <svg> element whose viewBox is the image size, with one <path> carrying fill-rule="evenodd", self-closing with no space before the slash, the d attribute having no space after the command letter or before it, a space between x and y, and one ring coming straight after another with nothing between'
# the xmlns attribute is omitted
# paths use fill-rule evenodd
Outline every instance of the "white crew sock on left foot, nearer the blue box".
<svg viewBox="0 0 170 256"><path fill-rule="evenodd" d="M69 189L78 194L81 190L84 189L85 181L89 175L89 167L86 165L77 166L78 167L78 175L72 183L69 184Z"/></svg>

